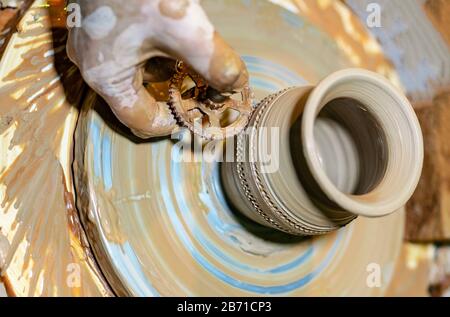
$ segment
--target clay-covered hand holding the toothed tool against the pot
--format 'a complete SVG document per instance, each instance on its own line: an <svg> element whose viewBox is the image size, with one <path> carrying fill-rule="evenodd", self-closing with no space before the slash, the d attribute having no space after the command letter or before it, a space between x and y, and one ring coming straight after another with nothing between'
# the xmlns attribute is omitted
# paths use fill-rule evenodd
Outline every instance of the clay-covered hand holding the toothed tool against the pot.
<svg viewBox="0 0 450 317"><path fill-rule="evenodd" d="M175 121L165 103L144 88L145 76L164 77L146 62L181 59L221 92L242 88L242 60L214 31L198 0L77 0L82 27L69 31L68 54L85 81L140 137L167 135ZM153 72L153 74L152 74Z"/></svg>

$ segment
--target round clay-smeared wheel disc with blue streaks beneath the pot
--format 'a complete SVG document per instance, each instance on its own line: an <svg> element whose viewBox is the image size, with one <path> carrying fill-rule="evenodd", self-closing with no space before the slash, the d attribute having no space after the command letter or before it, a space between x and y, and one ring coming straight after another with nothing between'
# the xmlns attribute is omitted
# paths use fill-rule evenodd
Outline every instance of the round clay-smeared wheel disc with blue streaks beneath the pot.
<svg viewBox="0 0 450 317"><path fill-rule="evenodd" d="M303 21L280 7L262 1L204 5L244 57L259 97L350 66L319 30L300 28ZM334 62L324 65L324 56ZM383 286L367 285L367 268L379 264L382 284L388 284L402 239L402 212L361 218L318 238L256 225L227 203L219 164L179 162L172 156L177 140L137 142L105 108L93 94L85 100L75 175L88 234L116 292L382 294Z"/></svg>

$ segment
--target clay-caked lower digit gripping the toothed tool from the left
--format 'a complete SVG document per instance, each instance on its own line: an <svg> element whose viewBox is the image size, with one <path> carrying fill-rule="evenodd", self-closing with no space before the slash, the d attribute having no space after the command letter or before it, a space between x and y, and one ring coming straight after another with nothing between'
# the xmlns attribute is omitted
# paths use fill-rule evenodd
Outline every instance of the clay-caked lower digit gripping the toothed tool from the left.
<svg viewBox="0 0 450 317"><path fill-rule="evenodd" d="M142 46L148 35L141 25L130 23L137 12L118 14L122 11L113 6L118 2L101 7L94 1L85 3L84 21L89 23L70 30L68 54L87 84L134 134L144 138L168 135L177 127L175 120L167 105L156 102L143 86L142 65L147 58ZM123 29L123 25L130 27Z"/></svg>

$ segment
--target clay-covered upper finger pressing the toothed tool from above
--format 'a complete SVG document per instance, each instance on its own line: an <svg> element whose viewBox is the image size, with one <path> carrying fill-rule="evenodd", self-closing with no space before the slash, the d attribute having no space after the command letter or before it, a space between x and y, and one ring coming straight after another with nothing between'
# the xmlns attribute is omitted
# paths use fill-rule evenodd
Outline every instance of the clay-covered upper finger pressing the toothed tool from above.
<svg viewBox="0 0 450 317"><path fill-rule="evenodd" d="M180 58L219 91L243 88L248 72L239 55L214 30L198 1L163 0L158 34L161 49Z"/></svg>

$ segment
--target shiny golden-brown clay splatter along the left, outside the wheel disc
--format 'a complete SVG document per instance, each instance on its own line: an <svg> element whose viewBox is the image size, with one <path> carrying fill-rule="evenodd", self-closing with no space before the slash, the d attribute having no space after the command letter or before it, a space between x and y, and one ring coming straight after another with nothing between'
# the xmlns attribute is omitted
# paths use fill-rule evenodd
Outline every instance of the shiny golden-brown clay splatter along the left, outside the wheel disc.
<svg viewBox="0 0 450 317"><path fill-rule="evenodd" d="M0 64L2 274L17 296L111 295L73 203L70 143L83 84L65 57L66 33L52 34L40 6L26 13ZM70 283L74 272L81 283Z"/></svg>

